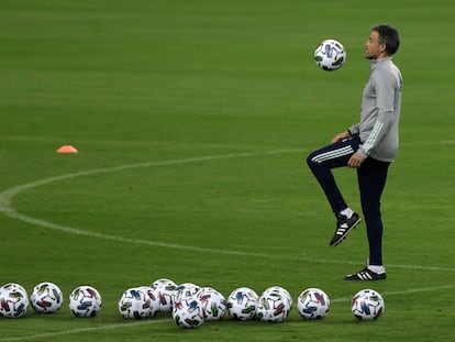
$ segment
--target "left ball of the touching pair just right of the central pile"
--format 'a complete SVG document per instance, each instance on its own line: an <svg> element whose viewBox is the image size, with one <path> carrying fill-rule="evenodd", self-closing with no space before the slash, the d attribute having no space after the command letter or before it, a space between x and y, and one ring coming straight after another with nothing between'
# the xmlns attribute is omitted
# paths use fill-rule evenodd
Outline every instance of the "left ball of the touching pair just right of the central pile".
<svg viewBox="0 0 455 342"><path fill-rule="evenodd" d="M228 313L231 318L247 321L256 316L257 300L259 296L248 288L238 287L228 297Z"/></svg>

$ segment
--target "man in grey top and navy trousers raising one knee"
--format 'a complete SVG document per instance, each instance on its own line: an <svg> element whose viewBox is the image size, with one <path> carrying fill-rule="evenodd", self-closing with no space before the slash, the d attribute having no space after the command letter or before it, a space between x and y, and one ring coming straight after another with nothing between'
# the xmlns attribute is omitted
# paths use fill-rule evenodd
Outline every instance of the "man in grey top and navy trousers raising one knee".
<svg viewBox="0 0 455 342"><path fill-rule="evenodd" d="M332 168L347 166L357 169L369 258L364 269L345 276L345 280L386 279L380 198L387 170L398 151L403 80L391 56L399 45L400 40L395 27L382 24L371 27L365 44L365 57L371 60L371 69L364 88L360 122L336 134L330 145L312 152L307 159L337 220L335 234L330 242L332 246L341 243L360 222L358 213L344 201Z"/></svg>

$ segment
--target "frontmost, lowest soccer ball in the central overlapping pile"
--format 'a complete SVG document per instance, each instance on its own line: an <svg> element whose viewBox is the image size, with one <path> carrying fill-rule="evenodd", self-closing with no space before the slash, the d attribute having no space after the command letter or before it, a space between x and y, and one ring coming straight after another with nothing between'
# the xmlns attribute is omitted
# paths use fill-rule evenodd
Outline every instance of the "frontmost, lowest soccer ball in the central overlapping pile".
<svg viewBox="0 0 455 342"><path fill-rule="evenodd" d="M198 328L204 322L203 306L196 297L174 302L173 318L181 328Z"/></svg>

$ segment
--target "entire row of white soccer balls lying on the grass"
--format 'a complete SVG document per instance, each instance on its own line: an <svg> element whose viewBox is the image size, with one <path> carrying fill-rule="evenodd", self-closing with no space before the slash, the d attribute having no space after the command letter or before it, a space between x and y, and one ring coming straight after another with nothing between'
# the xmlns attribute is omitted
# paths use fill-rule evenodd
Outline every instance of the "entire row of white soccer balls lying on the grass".
<svg viewBox="0 0 455 342"><path fill-rule="evenodd" d="M38 313L53 313L60 309L64 297L57 285L40 283L33 288L30 302ZM92 286L79 286L69 296L69 309L76 317L95 317L101 310L101 295ZM21 285L5 284L0 288L0 316L23 317L27 307L27 293ZM182 328L221 320L226 312L235 320L282 322L291 308L292 297L279 286L267 288L260 296L248 287L240 287L226 299L214 288L191 283L177 285L170 279L129 288L119 299L119 312L125 319L146 319L157 312L171 312L177 326ZM352 299L352 312L359 320L375 320L384 308L382 297L373 289L363 289ZM323 319L329 309L329 296L319 288L308 288L297 299L297 310L304 319Z"/></svg>

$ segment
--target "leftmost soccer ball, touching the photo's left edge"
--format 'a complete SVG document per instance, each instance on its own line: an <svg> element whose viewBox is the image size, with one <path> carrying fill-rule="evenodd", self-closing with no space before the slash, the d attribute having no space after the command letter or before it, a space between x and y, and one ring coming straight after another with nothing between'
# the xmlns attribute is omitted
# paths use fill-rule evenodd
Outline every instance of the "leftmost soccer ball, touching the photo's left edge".
<svg viewBox="0 0 455 342"><path fill-rule="evenodd" d="M24 317L29 308L26 290L19 284L5 284L0 288L0 316Z"/></svg>

